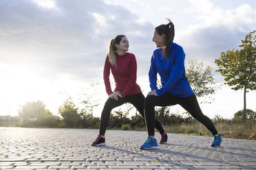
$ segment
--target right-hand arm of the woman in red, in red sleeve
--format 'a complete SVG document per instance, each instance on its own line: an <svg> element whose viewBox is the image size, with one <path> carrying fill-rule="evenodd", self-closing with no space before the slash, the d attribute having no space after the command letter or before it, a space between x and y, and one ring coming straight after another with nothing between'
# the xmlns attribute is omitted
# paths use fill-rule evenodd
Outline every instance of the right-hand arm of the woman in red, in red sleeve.
<svg viewBox="0 0 256 170"><path fill-rule="evenodd" d="M131 56L131 68L130 68L130 79L127 85L125 86L125 89L122 90L121 95L122 97L125 97L129 91L134 88L134 84L136 84L136 79L137 79L137 62L136 58L134 55Z"/></svg>

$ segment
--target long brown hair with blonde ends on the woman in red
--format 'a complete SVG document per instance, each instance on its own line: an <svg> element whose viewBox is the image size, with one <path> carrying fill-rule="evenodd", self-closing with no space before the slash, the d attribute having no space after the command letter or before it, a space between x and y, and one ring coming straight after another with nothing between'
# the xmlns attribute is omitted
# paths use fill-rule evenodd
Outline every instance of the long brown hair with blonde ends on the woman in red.
<svg viewBox="0 0 256 170"><path fill-rule="evenodd" d="M109 63L111 66L116 66L116 45L120 44L120 41L122 40L122 37L125 37L124 35L117 35L116 38L111 39L109 42Z"/></svg>

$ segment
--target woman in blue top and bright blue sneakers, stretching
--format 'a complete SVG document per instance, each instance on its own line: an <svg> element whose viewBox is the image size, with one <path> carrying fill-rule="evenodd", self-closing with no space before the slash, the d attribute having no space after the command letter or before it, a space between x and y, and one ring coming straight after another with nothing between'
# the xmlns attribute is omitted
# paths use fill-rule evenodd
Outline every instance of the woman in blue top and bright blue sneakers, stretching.
<svg viewBox="0 0 256 170"><path fill-rule="evenodd" d="M185 76L184 59L185 53L173 42L174 25L169 20L167 25L159 25L153 33L153 42L156 49L153 51L151 66L149 70L149 82L151 91L145 99L145 119L149 137L140 146L140 149L158 148L156 138L154 138L155 106L173 106L180 104L192 117L204 124L213 134L212 147L220 146L222 138L217 134L217 130L209 117L206 117L198 104L198 100L189 85ZM156 86L157 73L160 75L162 87Z"/></svg>

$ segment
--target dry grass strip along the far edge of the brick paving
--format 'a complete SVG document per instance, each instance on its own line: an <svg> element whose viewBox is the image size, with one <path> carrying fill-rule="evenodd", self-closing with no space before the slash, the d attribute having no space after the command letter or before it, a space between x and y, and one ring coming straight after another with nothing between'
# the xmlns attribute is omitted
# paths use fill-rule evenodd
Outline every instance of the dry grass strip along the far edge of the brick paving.
<svg viewBox="0 0 256 170"><path fill-rule="evenodd" d="M246 119L242 120L228 120L228 119L215 119L213 120L217 131L226 138L242 138L248 140L256 140L256 120ZM62 122L61 122L62 123ZM32 123L32 126L24 124L21 127L40 127L38 124ZM37 126L36 126L37 125ZM65 124L61 124L65 127ZM99 123L94 125L94 129L98 129ZM46 127L46 126L45 126ZM81 127L82 128L82 127ZM89 127L87 127L89 128ZM123 124L122 127L111 127L107 130L135 130L135 131L147 131L147 128L144 127L131 127L129 123ZM191 135L202 135L202 136L212 136L211 132L199 123L198 121L191 121L191 123L180 123L173 125L165 125L164 130L167 133L175 134L191 134Z"/></svg>

